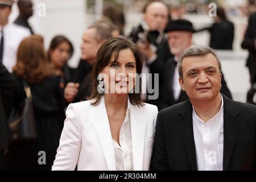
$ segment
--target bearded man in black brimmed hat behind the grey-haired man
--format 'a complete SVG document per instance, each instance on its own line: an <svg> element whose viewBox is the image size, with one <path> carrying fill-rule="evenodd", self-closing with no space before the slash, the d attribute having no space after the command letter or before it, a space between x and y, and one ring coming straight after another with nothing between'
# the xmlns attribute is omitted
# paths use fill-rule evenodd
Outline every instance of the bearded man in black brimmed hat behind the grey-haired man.
<svg viewBox="0 0 256 182"><path fill-rule="evenodd" d="M168 23L165 32L168 37L170 51L174 55L174 57L168 59L166 65L164 66L165 84L163 88L163 102L167 107L188 99L187 94L181 90L179 85L177 60L185 49L192 46L192 35L195 31L191 22L185 19L177 19ZM221 92L224 93L225 96L232 98L232 95L226 86L226 81L224 80L223 75L221 78L221 84Z"/></svg>

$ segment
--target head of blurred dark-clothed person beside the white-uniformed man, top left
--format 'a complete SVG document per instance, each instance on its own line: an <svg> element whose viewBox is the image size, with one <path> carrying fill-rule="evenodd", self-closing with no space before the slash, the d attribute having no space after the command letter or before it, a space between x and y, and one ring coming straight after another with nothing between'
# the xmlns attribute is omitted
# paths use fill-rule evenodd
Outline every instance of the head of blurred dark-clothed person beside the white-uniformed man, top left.
<svg viewBox="0 0 256 182"><path fill-rule="evenodd" d="M19 0L17 3L19 14L25 18L30 18L33 15L33 3L31 0Z"/></svg>

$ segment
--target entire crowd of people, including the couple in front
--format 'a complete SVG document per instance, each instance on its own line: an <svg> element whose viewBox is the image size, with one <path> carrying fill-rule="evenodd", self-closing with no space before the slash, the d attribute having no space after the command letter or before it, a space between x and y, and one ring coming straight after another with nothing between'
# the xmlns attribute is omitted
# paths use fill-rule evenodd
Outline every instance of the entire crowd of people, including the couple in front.
<svg viewBox="0 0 256 182"><path fill-rule="evenodd" d="M123 26L101 19L84 31L79 65L71 68L71 40L57 35L45 48L28 23L31 0L18 1L11 23L13 3L0 0L0 169L256 169L256 13L241 43L251 83L251 104L242 104L232 101L214 52L233 49L234 26L222 7L201 30L172 19L160 1L147 3L126 37ZM204 30L209 47L193 46L193 34ZM142 73L152 77L135 76ZM25 120L36 135L21 128Z"/></svg>

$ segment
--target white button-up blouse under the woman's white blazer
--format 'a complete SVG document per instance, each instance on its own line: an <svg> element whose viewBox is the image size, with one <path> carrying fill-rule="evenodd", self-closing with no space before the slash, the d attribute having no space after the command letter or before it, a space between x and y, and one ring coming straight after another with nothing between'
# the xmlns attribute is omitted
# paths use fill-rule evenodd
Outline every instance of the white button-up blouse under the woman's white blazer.
<svg viewBox="0 0 256 182"><path fill-rule="evenodd" d="M113 139L117 171L133 171L133 151L131 144L131 121L129 101L126 110L125 121L123 121L119 134L119 143L120 146Z"/></svg>

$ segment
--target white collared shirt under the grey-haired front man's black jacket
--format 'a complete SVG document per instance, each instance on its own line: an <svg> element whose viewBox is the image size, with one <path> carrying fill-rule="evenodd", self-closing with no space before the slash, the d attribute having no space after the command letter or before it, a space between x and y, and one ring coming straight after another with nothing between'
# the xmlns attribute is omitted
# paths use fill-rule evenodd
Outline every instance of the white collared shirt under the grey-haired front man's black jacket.
<svg viewBox="0 0 256 182"><path fill-rule="evenodd" d="M207 122L200 119L193 108L193 134L196 146L197 169L199 171L223 170L223 111L222 96L220 110Z"/></svg>

